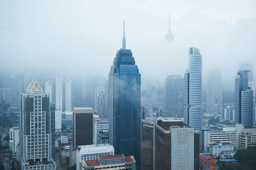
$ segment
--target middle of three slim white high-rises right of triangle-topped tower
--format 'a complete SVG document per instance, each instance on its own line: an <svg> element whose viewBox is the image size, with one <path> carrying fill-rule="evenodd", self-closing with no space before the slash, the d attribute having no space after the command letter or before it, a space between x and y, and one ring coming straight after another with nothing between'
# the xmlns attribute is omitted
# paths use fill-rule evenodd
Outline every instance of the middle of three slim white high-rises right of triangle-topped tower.
<svg viewBox="0 0 256 170"><path fill-rule="evenodd" d="M62 76L56 76L56 110L62 111Z"/></svg>

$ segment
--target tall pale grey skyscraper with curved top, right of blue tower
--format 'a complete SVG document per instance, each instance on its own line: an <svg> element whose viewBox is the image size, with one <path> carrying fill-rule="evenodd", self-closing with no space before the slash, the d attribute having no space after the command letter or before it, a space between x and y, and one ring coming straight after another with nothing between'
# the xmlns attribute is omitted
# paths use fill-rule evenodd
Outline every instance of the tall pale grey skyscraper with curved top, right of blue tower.
<svg viewBox="0 0 256 170"><path fill-rule="evenodd" d="M184 74L184 123L200 131L202 143L202 55L195 47L189 48L189 69Z"/></svg>

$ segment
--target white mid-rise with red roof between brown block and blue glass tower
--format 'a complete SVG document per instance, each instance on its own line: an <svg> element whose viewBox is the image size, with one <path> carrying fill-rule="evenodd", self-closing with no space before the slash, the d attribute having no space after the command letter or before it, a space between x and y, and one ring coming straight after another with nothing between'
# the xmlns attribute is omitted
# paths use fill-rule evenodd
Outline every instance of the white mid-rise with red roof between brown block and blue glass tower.
<svg viewBox="0 0 256 170"><path fill-rule="evenodd" d="M108 124L108 118L99 118L99 115L95 115L94 117L94 131L93 131L93 143L94 144L102 144L98 140L99 131L104 131L106 134L106 131L109 130L109 124ZM102 133L103 135L103 133ZM106 137L106 136L105 136ZM109 138L109 136L108 136Z"/></svg>

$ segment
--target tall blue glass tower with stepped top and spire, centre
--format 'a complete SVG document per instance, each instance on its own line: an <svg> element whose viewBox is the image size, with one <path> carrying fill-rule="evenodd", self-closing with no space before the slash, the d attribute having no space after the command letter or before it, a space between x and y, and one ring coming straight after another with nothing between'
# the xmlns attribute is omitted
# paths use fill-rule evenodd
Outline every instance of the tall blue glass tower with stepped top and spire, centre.
<svg viewBox="0 0 256 170"><path fill-rule="evenodd" d="M134 155L140 169L141 157L141 76L131 50L116 52L109 71L109 143L116 154Z"/></svg>

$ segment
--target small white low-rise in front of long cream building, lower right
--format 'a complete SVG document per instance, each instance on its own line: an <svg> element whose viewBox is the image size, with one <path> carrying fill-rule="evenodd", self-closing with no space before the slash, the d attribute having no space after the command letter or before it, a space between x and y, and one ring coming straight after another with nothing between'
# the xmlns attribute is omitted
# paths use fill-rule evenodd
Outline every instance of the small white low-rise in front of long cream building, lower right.
<svg viewBox="0 0 256 170"><path fill-rule="evenodd" d="M234 144L231 143L214 143L209 146L209 153L214 156L220 156L221 159L232 158L235 155Z"/></svg>

